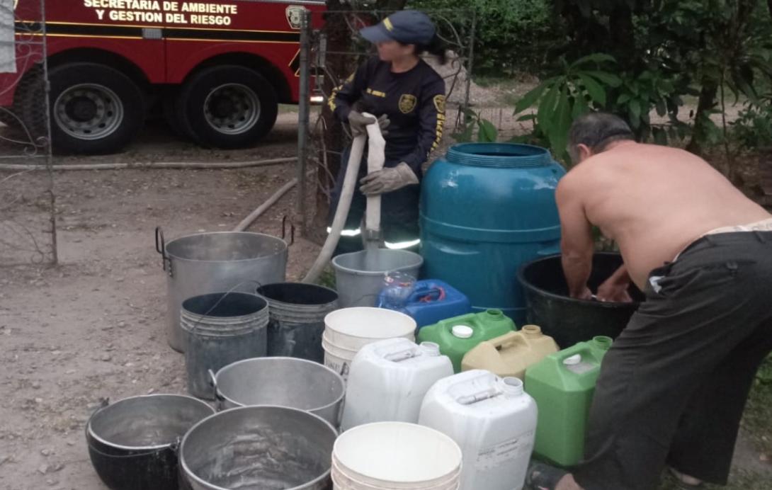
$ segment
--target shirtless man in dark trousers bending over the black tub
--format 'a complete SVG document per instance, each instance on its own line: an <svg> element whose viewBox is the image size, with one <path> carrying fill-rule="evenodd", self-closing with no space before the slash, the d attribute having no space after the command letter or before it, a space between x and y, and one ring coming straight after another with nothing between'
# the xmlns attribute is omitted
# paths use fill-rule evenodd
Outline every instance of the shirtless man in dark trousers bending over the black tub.
<svg viewBox="0 0 772 490"><path fill-rule="evenodd" d="M701 158L635 143L610 114L581 117L569 139L579 164L557 206L571 296L593 294L597 225L625 261L597 298L629 300L632 280L646 301L604 359L585 461L572 474L534 465L531 488L651 490L665 465L685 485L725 485L772 350L772 215Z"/></svg>

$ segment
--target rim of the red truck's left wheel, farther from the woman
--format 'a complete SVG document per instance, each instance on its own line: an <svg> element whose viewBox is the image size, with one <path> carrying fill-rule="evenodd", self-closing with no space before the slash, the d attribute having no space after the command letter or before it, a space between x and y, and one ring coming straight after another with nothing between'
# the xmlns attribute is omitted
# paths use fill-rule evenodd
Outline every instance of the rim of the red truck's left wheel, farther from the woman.
<svg viewBox="0 0 772 490"><path fill-rule="evenodd" d="M95 83L73 85L53 106L56 126L79 140L100 140L124 121L124 103L115 92Z"/></svg>

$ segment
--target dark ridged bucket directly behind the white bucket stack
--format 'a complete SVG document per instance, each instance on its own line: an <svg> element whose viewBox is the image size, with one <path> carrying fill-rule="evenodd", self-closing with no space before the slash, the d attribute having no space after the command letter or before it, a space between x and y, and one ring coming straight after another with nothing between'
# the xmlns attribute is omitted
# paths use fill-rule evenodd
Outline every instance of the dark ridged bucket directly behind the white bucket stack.
<svg viewBox="0 0 772 490"><path fill-rule="evenodd" d="M337 292L322 286L280 282L260 286L268 301L268 355L324 362L324 317L337 309Z"/></svg>

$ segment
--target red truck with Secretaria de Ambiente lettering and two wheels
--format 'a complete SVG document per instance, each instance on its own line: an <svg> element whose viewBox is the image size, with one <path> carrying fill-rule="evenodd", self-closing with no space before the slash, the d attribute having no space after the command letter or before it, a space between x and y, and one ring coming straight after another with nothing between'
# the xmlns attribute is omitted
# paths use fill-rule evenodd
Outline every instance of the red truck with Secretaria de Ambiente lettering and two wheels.
<svg viewBox="0 0 772 490"><path fill-rule="evenodd" d="M40 126L29 108L42 90L29 87L42 86L32 81L43 51L29 56L22 39L39 36L45 19L53 148L80 154L120 150L157 105L201 145L255 144L279 103L298 102L303 9L324 9L323 0L49 0L42 15L40 0L15 2L16 73L0 73L0 106Z"/></svg>

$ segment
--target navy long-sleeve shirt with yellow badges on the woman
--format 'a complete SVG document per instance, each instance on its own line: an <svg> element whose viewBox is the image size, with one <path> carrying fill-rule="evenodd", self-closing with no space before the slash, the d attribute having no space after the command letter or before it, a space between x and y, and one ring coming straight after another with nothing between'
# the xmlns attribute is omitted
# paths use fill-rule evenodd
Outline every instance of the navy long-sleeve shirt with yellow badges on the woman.
<svg viewBox="0 0 772 490"><path fill-rule="evenodd" d="M374 57L337 87L330 109L342 121L351 110L391 120L386 161L405 162L421 177L421 166L442 139L445 125L445 81L423 60L405 73Z"/></svg>

